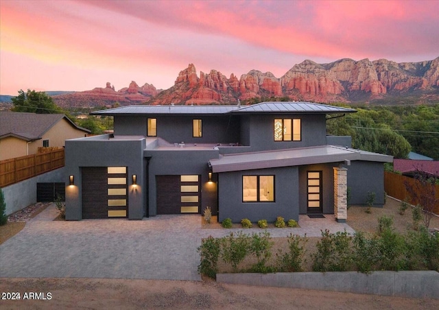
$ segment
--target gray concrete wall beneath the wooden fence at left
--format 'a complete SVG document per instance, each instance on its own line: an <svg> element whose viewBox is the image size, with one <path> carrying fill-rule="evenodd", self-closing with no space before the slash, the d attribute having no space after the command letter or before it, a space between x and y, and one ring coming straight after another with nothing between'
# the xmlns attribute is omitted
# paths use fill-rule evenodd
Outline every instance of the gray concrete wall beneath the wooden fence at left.
<svg viewBox="0 0 439 310"><path fill-rule="evenodd" d="M65 168L59 168L40 174L34 178L29 178L21 182L3 187L5 195L6 215L10 215L16 211L36 203L36 183L40 182L64 182Z"/></svg>

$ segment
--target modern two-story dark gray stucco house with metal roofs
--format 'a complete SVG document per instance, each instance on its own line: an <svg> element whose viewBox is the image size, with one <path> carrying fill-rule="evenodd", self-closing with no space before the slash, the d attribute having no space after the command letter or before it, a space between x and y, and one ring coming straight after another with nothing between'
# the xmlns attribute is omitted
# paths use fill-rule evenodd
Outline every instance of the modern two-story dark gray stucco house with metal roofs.
<svg viewBox="0 0 439 310"><path fill-rule="evenodd" d="M326 122L353 109L308 102L252 106L124 106L114 134L66 141L67 219L199 213L219 222L299 214L346 220L375 192L383 204L383 163L392 156L353 150L327 136Z"/></svg>

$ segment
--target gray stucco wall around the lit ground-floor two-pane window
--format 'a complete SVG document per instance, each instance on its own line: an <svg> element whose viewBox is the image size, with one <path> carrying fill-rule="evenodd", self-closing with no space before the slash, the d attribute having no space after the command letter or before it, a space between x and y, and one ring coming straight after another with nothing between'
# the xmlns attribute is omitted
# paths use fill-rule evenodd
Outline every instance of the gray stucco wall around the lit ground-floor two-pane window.
<svg viewBox="0 0 439 310"><path fill-rule="evenodd" d="M244 175L274 175L275 202L243 202ZM275 222L278 216L284 217L285 221L298 221L298 196L298 167L224 172L218 176L218 221L222 222L230 217L233 222L241 222L244 218L252 222L259 219Z"/></svg>

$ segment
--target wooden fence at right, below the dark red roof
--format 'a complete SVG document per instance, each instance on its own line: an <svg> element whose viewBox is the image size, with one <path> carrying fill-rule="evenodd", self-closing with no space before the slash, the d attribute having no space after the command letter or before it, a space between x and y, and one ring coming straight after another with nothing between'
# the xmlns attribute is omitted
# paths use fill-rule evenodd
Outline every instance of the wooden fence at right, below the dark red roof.
<svg viewBox="0 0 439 310"><path fill-rule="evenodd" d="M412 188L416 189L415 184L419 182L414 178L407 176L401 176L401 174L394 174L392 172L384 171L384 190L393 198L404 200L409 198L409 193L405 189L405 183L410 184ZM436 206L434 207L434 213L439 214L439 185L436 184ZM418 204L417 201L410 201L411 204Z"/></svg>

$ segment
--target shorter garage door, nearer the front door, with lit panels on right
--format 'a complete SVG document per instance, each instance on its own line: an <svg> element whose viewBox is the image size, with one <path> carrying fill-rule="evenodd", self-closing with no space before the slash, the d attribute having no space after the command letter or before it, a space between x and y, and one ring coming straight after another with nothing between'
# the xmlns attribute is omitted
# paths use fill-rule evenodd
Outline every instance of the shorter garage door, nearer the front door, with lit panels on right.
<svg viewBox="0 0 439 310"><path fill-rule="evenodd" d="M157 214L200 213L200 176L156 176Z"/></svg>

